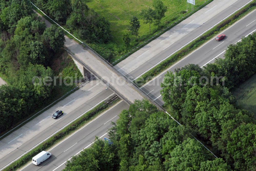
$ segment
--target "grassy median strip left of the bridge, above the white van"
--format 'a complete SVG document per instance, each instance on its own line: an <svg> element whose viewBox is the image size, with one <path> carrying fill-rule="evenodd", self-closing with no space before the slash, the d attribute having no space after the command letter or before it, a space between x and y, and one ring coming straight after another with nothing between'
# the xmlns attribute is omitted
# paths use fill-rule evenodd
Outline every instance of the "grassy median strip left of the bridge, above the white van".
<svg viewBox="0 0 256 171"><path fill-rule="evenodd" d="M83 125L85 125L86 123L88 123L89 121L94 119L95 117L97 117L99 114L101 114L105 110L109 109L114 104L116 104L119 100L120 100L119 98L116 98L116 99L114 99L113 101L110 101L110 102L102 102L102 103L100 103L99 105L97 105L92 110L86 112L79 119L77 119L76 121L74 121L71 124L69 124L63 130L59 131L58 133L56 133L55 135L50 137L48 140L46 140L45 142L41 143L36 148L34 148L30 152L28 152L27 154L25 154L24 156L19 158L17 161L15 161L14 163L10 164L8 167L6 167L4 169L4 171L16 170L16 169L22 167L23 165L27 164L28 162L31 162L32 157L34 157L35 155L37 155L41 151L44 151L44 150L47 151L47 149L51 148L52 146L57 144L59 141L61 141L64 138L68 137L74 131L78 130L80 127L82 127Z"/></svg>

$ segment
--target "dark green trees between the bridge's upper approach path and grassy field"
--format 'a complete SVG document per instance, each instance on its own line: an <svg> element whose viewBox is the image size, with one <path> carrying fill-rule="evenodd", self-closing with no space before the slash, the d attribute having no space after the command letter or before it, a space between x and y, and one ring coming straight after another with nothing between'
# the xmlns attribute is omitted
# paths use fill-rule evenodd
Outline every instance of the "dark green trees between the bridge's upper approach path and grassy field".
<svg viewBox="0 0 256 171"><path fill-rule="evenodd" d="M109 22L88 8L84 0L34 0L36 6L57 23L88 42L110 40Z"/></svg>

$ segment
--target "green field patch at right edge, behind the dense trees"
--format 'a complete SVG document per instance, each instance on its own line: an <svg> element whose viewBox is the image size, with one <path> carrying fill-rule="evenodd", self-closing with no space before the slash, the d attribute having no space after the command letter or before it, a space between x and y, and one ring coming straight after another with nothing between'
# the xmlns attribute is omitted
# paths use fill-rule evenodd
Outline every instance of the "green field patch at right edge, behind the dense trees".
<svg viewBox="0 0 256 171"><path fill-rule="evenodd" d="M254 119L256 119L256 74L232 89L232 94L237 98L237 104L242 109L254 113Z"/></svg>

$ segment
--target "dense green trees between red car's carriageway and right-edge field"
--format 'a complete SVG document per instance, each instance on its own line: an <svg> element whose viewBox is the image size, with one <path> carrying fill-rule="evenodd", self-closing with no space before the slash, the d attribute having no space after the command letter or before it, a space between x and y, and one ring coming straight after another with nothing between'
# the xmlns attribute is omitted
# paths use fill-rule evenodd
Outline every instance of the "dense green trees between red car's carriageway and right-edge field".
<svg viewBox="0 0 256 171"><path fill-rule="evenodd" d="M190 64L174 73L168 72L161 84L163 100L171 106L174 116L208 141L236 170L256 169L253 114L237 109L229 92L256 72L255 37L253 33L236 45L230 45L225 59L216 59L203 69ZM201 79L200 83L203 76L209 81L211 77L220 80L207 84ZM209 170L207 165L213 164L216 165L208 162L202 166Z"/></svg>

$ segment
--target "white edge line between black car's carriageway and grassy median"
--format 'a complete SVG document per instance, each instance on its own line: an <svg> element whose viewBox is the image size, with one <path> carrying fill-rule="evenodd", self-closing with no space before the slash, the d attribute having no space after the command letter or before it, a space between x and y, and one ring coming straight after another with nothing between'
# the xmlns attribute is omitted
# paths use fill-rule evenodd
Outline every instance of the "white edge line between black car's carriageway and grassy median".
<svg viewBox="0 0 256 171"><path fill-rule="evenodd" d="M104 90L102 90L104 91ZM114 95L115 93L109 95L107 98L105 98L104 100L108 99L109 97L111 97L112 95ZM98 104L100 104L101 102L103 102L104 100L100 101L99 103L97 103L96 105L94 105L92 108L90 108L89 110L87 110L86 112L92 110L95 108L95 106L97 106ZM84 113L86 113L84 112ZM83 114L84 114L83 113ZM53 133L52 135L56 134L57 132L63 130L66 126L68 126L70 123L72 123L73 121L77 120L78 118L80 118L83 114L81 114L80 116L78 116L76 119L72 120L71 122L69 122L67 125L63 126L61 129L59 129L58 131L56 131L55 133ZM17 157L16 159L14 159L12 162L10 162L9 164L7 164L6 166L4 166L3 168L1 168L0 170L3 170L4 168L8 167L10 164L12 164L13 162L15 162L17 159L19 159L20 157L24 156L25 154L29 153L31 150L33 150L34 148L36 148L38 145L40 145L42 142L48 140L52 135L48 136L47 138L45 138L43 141L41 141L40 143L38 143L37 145L35 145L34 147L32 147L31 149L29 149L28 151L26 151L25 153L23 153L22 155L20 155L19 157Z"/></svg>

